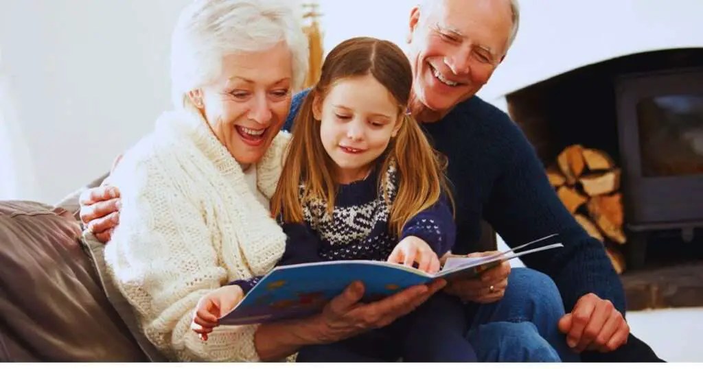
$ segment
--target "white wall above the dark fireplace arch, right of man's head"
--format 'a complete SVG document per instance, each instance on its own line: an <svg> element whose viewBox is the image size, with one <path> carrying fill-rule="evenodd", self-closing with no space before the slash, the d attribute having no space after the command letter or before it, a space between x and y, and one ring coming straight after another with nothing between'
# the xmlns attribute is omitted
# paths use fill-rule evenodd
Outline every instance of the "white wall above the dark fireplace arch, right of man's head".
<svg viewBox="0 0 703 369"><path fill-rule="evenodd" d="M703 47L701 0L521 1L520 33L482 96L631 53Z"/></svg>

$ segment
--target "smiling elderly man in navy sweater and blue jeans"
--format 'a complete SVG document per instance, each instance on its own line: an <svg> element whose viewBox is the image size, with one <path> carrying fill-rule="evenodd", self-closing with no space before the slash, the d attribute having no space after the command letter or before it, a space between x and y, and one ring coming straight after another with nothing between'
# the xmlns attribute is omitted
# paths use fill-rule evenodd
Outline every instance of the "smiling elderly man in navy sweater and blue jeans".
<svg viewBox="0 0 703 369"><path fill-rule="evenodd" d="M520 335L528 349L546 339L566 360L579 353L584 361L660 361L629 333L624 291L600 242L563 207L510 117L475 96L505 58L518 25L517 0L428 0L411 11L411 112L449 159L458 228L453 253L475 251L482 219L508 245L552 233L565 245L524 257L529 268L511 273L503 263L480 280L453 283L446 291L462 297L474 317L468 339L498 343L484 351L485 345L476 345L482 361L518 357L509 354L514 347L501 347L501 337L482 335L487 323L503 324L504 336ZM306 93L294 98L286 129ZM117 223L117 196L109 186L83 196L82 219L101 240L109 239ZM562 300L550 298L554 287ZM562 301L568 313L560 310ZM554 311L563 316L554 318Z"/></svg>

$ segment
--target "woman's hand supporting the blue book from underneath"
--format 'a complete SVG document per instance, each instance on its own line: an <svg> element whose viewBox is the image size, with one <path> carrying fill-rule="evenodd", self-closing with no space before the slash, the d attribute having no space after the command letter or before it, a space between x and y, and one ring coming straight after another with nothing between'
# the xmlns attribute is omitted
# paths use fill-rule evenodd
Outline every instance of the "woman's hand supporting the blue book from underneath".
<svg viewBox="0 0 703 369"><path fill-rule="evenodd" d="M444 285L444 280L435 280L429 285L409 287L378 302L363 304L359 302L363 297L363 284L354 282L313 318L311 336L316 337L316 343L326 344L385 327L423 304Z"/></svg>

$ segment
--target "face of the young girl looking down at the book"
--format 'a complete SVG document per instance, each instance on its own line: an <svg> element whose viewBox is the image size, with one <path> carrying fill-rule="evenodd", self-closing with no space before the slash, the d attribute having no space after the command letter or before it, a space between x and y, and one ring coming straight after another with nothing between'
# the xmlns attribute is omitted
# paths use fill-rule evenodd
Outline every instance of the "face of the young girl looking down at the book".
<svg viewBox="0 0 703 369"><path fill-rule="evenodd" d="M395 136L401 117L399 103L372 75L341 79L323 101L316 99L314 115L320 138L337 164L338 183L364 179Z"/></svg>

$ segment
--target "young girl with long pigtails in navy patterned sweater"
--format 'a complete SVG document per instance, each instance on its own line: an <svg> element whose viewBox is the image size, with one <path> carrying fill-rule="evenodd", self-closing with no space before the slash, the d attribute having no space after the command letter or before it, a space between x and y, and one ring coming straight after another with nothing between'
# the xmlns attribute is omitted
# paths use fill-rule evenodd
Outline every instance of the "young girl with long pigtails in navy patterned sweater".
<svg viewBox="0 0 703 369"><path fill-rule="evenodd" d="M288 235L280 265L370 259L439 270L456 228L441 164L406 114L411 84L411 65L391 42L361 37L330 52L295 120L271 200ZM219 316L214 306L233 306L258 281L211 292L196 315ZM196 330L204 339L217 325L208 323ZM305 347L297 359L476 361L467 328L463 304L440 292L385 328Z"/></svg>

